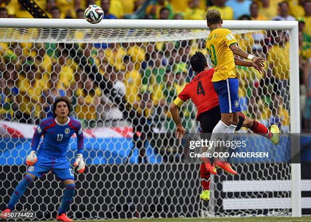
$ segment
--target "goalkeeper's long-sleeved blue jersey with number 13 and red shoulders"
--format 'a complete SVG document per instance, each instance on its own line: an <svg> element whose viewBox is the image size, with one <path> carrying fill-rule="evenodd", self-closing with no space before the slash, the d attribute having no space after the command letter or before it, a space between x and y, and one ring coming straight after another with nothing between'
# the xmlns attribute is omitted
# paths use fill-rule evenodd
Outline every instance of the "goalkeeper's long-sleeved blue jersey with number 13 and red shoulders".
<svg viewBox="0 0 311 222"><path fill-rule="evenodd" d="M66 157L69 141L74 133L77 135L78 153L82 153L83 132L79 120L69 117L67 123L59 124L56 118L45 118L40 122L34 133L32 150L37 151L40 138L43 135L38 155L54 158Z"/></svg>

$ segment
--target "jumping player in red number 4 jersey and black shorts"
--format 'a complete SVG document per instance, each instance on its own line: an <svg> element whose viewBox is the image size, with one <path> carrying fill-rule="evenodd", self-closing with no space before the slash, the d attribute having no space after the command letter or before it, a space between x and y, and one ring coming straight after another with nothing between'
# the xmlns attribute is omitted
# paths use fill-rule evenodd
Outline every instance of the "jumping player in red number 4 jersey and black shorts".
<svg viewBox="0 0 311 222"><path fill-rule="evenodd" d="M243 61L237 58L234 60L236 65L247 67L253 66L259 72L263 71L262 67L253 62ZM172 118L177 126L177 138L182 138L185 133L179 117L179 107L190 98L198 108L197 120L200 122L202 129L201 133L212 133L213 128L221 119L219 100L211 81L214 74L214 69L208 69L206 58L201 52L196 52L194 54L190 60L190 64L192 69L196 72L196 76L189 84L184 87L184 89L181 91L181 93L179 93L178 97L174 100L170 107ZM269 138L273 144L278 143L278 133L272 133L263 124L246 117L241 112L238 113L238 116L239 122L235 129L236 131L238 131L241 127L247 127L250 128L253 132ZM272 125L271 128L272 127L277 128L276 125ZM203 192L200 195L200 199L208 201L210 173L216 174L217 172L214 167L214 163L211 164L209 161L204 162L205 163L201 164L200 170L203 186ZM219 159L215 159L214 162L217 166L224 169L226 172L234 175L236 174L236 172L231 168L230 163L220 161Z"/></svg>

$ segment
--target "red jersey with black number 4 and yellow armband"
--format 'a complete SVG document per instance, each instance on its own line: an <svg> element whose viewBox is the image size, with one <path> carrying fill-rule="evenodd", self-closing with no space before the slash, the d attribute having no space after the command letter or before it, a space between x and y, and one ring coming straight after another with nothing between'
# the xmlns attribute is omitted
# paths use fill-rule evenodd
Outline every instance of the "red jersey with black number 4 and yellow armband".
<svg viewBox="0 0 311 222"><path fill-rule="evenodd" d="M200 114L219 105L218 96L212 84L214 69L203 70L198 73L189 84L185 85L174 103L181 106L182 103L191 98L198 108L197 119Z"/></svg>

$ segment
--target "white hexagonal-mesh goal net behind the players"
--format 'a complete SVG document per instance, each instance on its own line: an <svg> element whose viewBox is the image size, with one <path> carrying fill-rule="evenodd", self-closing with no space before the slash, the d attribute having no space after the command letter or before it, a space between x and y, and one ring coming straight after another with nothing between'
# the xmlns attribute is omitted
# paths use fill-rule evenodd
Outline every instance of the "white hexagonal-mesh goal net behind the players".
<svg viewBox="0 0 311 222"><path fill-rule="evenodd" d="M120 20L131 27L113 29L105 21L106 27L83 23L84 28L72 29L77 23L73 19L59 22L68 23L69 28L65 24L59 24L61 28L44 26L44 20L21 28L25 20L12 21L15 27L0 20L1 209L26 171L25 159L36 125L52 115L51 105L57 96L67 96L73 105L72 116L82 122L87 164L84 174L75 172L70 216L292 214L291 181L295 175L289 163L236 163L236 176L220 169L210 179L211 200L203 203L199 199L200 162L189 160L184 141L176 140L169 106L195 76L191 56L201 51L209 58L205 49L209 32L204 25L191 29L176 21L176 29L155 29L152 24L135 29L139 21ZM299 106L299 97L289 78L296 72L292 67L298 66L293 59L295 48L290 50L296 37L291 38L290 27L273 24L272 28L264 23L225 22L243 50L267 59L264 74L252 67L237 67L240 103L245 115L267 127L277 124L282 132L299 132L299 120L292 118L294 112L299 114L297 107L292 107ZM208 63L211 66L210 60ZM187 132L199 132L196 112L192 102L181 107ZM76 138L72 138L68 150L71 163L76 148ZM32 210L36 219L52 219L64 188L48 173L28 187L16 210Z"/></svg>

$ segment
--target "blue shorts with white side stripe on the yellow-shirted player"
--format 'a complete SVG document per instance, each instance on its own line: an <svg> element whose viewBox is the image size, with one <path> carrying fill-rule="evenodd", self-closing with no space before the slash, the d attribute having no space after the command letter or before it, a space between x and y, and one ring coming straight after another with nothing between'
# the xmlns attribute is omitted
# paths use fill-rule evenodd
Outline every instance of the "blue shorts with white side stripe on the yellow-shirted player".
<svg viewBox="0 0 311 222"><path fill-rule="evenodd" d="M219 98L219 106L222 114L241 111L238 94L239 81L237 78L214 81L213 86Z"/></svg>

